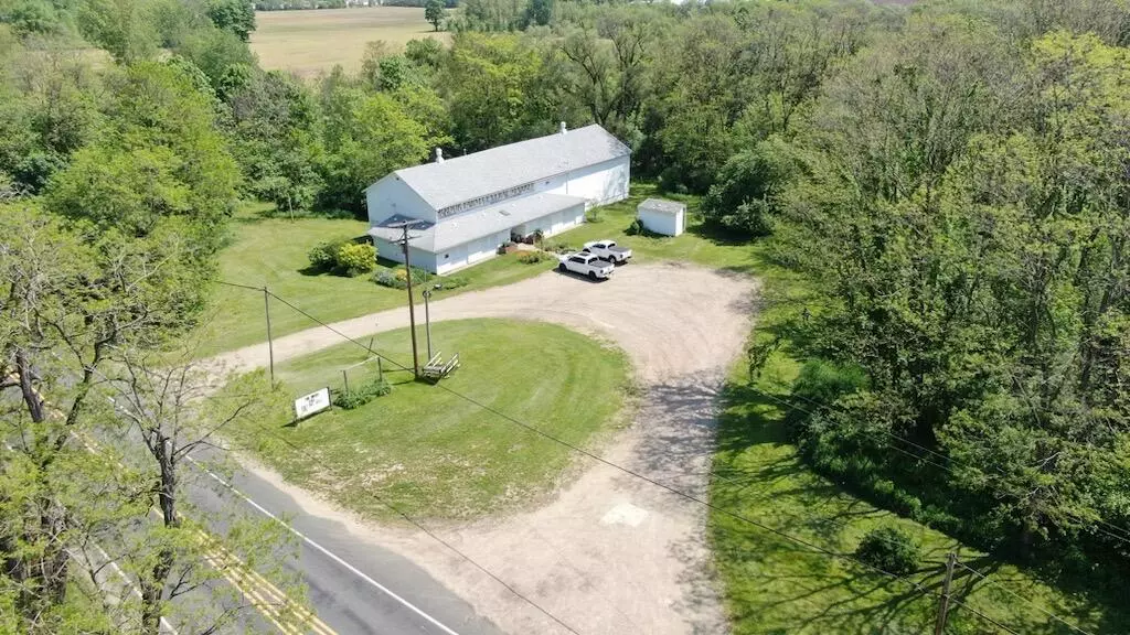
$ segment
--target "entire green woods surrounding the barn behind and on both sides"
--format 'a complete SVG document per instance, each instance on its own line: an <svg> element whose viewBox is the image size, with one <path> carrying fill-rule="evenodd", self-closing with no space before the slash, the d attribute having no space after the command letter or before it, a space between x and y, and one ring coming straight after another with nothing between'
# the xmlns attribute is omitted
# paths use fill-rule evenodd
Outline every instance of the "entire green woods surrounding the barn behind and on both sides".
<svg viewBox="0 0 1130 635"><path fill-rule="evenodd" d="M176 449L211 428L181 423L243 405L193 417L195 375L155 377L191 366L169 351L206 320L240 200L363 217L365 186L435 147L560 121L702 194L710 236L807 273L806 310L763 337L803 360L789 421L814 467L983 548L1125 566L1122 2L469 0L450 26L303 80L259 67L244 2L0 0L5 627L151 633L209 575ZM76 441L124 427L144 452L107 453L129 472ZM97 585L68 550L106 537L151 541L147 590L76 612L68 591Z"/></svg>

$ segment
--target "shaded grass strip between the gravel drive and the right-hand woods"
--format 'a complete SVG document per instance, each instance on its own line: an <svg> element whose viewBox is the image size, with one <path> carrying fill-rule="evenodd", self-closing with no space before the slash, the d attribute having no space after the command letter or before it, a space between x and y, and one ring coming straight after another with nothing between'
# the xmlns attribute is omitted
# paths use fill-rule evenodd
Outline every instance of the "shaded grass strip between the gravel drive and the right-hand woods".
<svg viewBox="0 0 1130 635"><path fill-rule="evenodd" d="M803 308L807 296L801 279L766 267L766 308L758 316L758 341L771 340L776 327ZM719 421L712 501L845 557L852 556L869 530L896 525L922 548L919 571L909 577L928 591L712 512L710 536L736 634L932 632L937 610L932 593L940 592L950 551L989 580L957 567L953 589L967 608L951 608L946 633L1003 632L970 608L1017 633L1078 633L1048 614L1089 633L1130 632L1124 608L1048 584L945 533L877 508L812 472L789 443L783 421L789 386L799 368L785 342L757 377L751 379L744 365L731 373Z"/></svg>

